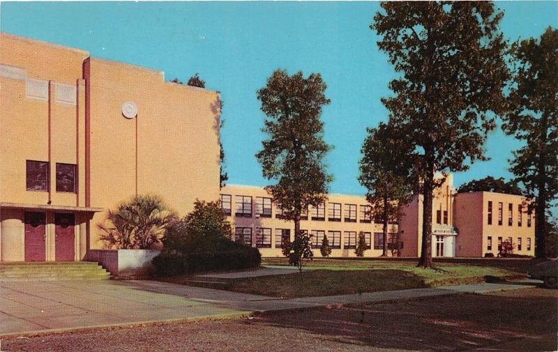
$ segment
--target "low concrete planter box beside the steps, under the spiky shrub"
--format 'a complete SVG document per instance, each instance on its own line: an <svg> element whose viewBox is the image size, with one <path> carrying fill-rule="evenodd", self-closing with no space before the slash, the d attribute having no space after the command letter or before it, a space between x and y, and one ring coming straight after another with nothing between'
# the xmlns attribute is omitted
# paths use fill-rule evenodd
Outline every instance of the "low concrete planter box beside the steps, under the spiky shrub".
<svg viewBox="0 0 558 352"><path fill-rule="evenodd" d="M85 261L96 261L111 275L133 274L151 268L160 250L89 250Z"/></svg>

